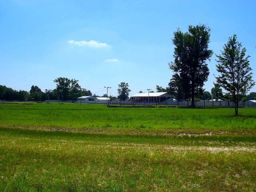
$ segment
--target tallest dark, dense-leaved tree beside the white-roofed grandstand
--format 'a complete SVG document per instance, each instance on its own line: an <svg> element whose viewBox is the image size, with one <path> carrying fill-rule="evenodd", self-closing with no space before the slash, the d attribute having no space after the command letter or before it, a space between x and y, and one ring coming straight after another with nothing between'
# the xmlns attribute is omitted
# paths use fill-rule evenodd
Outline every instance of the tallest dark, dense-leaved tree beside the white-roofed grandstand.
<svg viewBox="0 0 256 192"><path fill-rule="evenodd" d="M188 26L188 32L182 33L180 29L174 32L172 39L174 48L174 62L169 62L170 69L174 72L170 81L171 92L180 96L191 96L191 107L195 107L195 93L202 92L204 82L208 80L209 68L206 60L213 54L208 50L210 42L210 28L205 25ZM172 88L172 81L177 88Z"/></svg>

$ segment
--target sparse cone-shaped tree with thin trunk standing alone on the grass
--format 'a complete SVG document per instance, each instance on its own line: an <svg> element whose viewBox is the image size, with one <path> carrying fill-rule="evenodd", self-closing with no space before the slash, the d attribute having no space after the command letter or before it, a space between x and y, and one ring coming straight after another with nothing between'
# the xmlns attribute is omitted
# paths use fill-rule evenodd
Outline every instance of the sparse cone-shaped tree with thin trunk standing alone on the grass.
<svg viewBox="0 0 256 192"><path fill-rule="evenodd" d="M245 57L246 48L242 48L241 43L236 40L236 35L228 39L224 45L224 50L220 55L216 55L217 71L220 73L216 77L220 84L230 95L235 103L235 114L238 115L238 101L254 86L252 80L252 68L249 66L248 58Z"/></svg>

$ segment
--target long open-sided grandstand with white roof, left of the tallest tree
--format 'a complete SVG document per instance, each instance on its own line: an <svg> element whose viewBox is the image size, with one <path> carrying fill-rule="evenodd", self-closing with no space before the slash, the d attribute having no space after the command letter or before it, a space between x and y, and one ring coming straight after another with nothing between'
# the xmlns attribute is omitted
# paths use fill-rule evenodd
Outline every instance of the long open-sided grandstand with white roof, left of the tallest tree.
<svg viewBox="0 0 256 192"><path fill-rule="evenodd" d="M164 103L173 102L174 96L167 94L167 92L155 92L155 93L136 93L130 96L133 102L138 103Z"/></svg>

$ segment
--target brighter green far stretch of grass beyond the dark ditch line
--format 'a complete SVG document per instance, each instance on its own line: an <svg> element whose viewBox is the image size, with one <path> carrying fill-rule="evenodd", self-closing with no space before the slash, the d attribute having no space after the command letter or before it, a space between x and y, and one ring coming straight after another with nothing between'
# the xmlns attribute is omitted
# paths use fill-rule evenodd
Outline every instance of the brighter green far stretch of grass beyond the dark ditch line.
<svg viewBox="0 0 256 192"><path fill-rule="evenodd" d="M256 134L256 109L107 108L101 104L0 104L0 126L83 130L88 132Z"/></svg>

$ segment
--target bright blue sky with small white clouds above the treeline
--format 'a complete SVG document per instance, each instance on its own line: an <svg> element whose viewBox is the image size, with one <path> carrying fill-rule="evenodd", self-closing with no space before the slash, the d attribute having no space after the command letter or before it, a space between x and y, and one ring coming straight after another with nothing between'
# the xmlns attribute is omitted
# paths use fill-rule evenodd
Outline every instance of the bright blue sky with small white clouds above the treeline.
<svg viewBox="0 0 256 192"><path fill-rule="evenodd" d="M173 33L200 24L211 29L214 52L205 90L218 76L215 54L234 34L256 81L255 10L255 0L0 0L0 85L44 91L65 77L99 96L104 87L117 96L121 82L130 96L156 91L172 78Z"/></svg>

